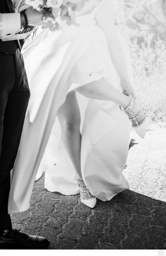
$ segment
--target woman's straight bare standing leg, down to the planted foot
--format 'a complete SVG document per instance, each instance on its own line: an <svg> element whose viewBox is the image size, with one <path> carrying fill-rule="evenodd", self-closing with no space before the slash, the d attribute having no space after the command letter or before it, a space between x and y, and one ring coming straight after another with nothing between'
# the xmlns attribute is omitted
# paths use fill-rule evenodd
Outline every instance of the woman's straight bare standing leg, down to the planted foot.
<svg viewBox="0 0 166 256"><path fill-rule="evenodd" d="M61 137L65 150L73 163L73 166L78 174L78 178L82 178L80 162L81 118L75 91L71 91L67 94L65 103L58 109L57 118L61 125ZM85 185L84 180L80 180L79 182L80 184ZM86 188L81 187L81 190L86 191ZM80 196L81 198L88 198L86 193L81 193Z"/></svg>

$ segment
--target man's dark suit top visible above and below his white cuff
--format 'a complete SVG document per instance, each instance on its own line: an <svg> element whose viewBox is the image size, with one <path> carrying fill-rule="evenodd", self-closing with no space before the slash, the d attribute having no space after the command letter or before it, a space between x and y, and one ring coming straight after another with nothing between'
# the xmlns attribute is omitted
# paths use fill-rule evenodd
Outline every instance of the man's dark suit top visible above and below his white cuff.
<svg viewBox="0 0 166 256"><path fill-rule="evenodd" d="M0 13L14 13L11 0L0 0ZM17 48L19 48L17 40L2 41L0 39L0 52L15 54Z"/></svg>

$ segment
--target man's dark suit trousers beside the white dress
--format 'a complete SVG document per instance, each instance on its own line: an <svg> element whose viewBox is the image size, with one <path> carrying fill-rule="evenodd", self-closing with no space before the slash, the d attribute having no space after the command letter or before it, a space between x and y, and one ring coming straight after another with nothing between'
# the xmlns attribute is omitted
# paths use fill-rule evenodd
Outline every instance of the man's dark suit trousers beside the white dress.
<svg viewBox="0 0 166 256"><path fill-rule="evenodd" d="M29 97L19 49L15 54L0 52L0 230L11 228L8 214L10 171L16 159Z"/></svg>

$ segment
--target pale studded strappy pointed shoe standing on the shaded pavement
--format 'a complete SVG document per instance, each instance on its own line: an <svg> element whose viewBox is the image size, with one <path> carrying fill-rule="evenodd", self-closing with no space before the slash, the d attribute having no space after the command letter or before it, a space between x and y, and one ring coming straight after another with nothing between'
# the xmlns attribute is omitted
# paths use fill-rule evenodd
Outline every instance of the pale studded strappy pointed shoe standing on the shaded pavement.
<svg viewBox="0 0 166 256"><path fill-rule="evenodd" d="M89 189L87 188L87 186L82 185L82 184L79 183L79 180L83 180L82 178L77 178L76 180L78 182L78 186L80 187L80 193L87 193L87 195L88 195L88 198L80 198L81 203L90 207L90 208L94 208L94 206L96 205L96 196L91 197L90 194L89 194ZM85 191L81 190L81 187L85 187L86 190Z"/></svg>

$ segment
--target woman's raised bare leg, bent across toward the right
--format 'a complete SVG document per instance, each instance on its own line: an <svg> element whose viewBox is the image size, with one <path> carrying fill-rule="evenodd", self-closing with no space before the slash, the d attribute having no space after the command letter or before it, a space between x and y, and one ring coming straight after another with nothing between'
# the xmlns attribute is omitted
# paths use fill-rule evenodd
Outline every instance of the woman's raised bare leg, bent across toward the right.
<svg viewBox="0 0 166 256"><path fill-rule="evenodd" d="M130 102L132 101L131 98L126 97L122 92L118 91L114 88L107 80L101 78L98 81L93 81L88 84L85 84L81 87L75 89L75 91L79 92L80 94L84 95L87 98L96 99L96 100L108 100L113 101L120 105L123 109L127 108ZM134 107L134 102L131 105L131 109ZM135 111L136 113L139 112L138 109ZM138 116L137 121L141 123L144 120L145 116L142 112L140 116ZM134 124L134 121L132 121Z"/></svg>

